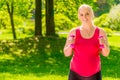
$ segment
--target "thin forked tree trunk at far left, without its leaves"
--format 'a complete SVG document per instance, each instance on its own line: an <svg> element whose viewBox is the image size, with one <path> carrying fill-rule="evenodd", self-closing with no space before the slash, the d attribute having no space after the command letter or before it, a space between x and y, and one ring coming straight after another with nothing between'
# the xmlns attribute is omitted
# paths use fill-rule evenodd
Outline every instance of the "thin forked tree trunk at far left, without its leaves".
<svg viewBox="0 0 120 80"><path fill-rule="evenodd" d="M15 32L15 26L14 26L14 19L13 19L13 9L14 9L13 1L11 3L11 8L10 8L10 5L9 5L9 2L7 2L7 9L8 9L8 13L9 13L9 16L10 16L10 22L11 22L11 26L12 26L13 39L17 39L16 38L16 32Z"/></svg>

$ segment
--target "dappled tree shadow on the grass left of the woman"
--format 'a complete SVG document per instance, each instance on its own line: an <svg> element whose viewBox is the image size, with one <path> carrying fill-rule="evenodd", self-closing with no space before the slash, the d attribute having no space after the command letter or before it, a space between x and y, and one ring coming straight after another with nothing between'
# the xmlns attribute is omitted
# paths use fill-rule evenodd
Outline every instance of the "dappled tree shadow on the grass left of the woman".
<svg viewBox="0 0 120 80"><path fill-rule="evenodd" d="M59 37L1 41L0 73L67 75L70 58L64 57L64 44L65 38Z"/></svg>

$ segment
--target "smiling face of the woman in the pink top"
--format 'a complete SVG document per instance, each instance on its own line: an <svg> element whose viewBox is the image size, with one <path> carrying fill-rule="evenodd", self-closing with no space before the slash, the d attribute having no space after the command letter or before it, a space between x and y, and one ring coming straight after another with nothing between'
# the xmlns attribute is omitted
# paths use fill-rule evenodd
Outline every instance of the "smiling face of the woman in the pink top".
<svg viewBox="0 0 120 80"><path fill-rule="evenodd" d="M79 10L78 15L79 15L79 19L81 20L82 24L92 23L93 14L89 8L86 8L86 7L81 8Z"/></svg>

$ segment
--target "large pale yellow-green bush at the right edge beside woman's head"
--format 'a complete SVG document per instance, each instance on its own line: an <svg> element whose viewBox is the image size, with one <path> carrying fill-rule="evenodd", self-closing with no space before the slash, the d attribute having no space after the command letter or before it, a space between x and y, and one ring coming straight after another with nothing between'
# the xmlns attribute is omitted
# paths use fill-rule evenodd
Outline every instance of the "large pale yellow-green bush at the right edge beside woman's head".
<svg viewBox="0 0 120 80"><path fill-rule="evenodd" d="M120 4L112 6L108 14L95 18L94 23L100 27L108 27L111 30L120 30Z"/></svg>

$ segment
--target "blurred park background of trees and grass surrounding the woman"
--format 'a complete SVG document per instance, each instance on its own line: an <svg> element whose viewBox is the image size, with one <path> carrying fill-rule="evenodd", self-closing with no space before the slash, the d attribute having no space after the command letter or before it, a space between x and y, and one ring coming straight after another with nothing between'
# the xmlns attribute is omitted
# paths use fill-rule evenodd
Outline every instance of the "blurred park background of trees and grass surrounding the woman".
<svg viewBox="0 0 120 80"><path fill-rule="evenodd" d="M107 32L111 52L101 56L103 80L120 80L120 0L0 0L0 80L67 80L63 47L79 26L81 4Z"/></svg>

